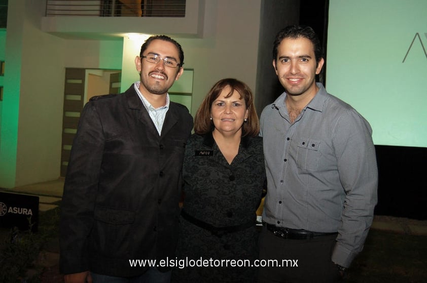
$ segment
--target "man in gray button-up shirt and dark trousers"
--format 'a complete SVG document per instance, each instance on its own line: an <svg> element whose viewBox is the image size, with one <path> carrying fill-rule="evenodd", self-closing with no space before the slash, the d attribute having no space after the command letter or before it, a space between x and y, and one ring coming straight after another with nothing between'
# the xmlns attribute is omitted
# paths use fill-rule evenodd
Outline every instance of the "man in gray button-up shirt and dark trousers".
<svg viewBox="0 0 427 283"><path fill-rule="evenodd" d="M315 83L324 59L310 27L276 36L273 67L285 92L261 114L268 189L260 282L336 282L362 251L377 203L372 129Z"/></svg>

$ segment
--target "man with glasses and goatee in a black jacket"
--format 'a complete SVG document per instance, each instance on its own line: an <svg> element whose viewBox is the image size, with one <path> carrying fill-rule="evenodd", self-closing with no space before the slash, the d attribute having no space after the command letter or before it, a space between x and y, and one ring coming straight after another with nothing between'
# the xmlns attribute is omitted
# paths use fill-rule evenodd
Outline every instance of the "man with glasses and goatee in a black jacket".
<svg viewBox="0 0 427 283"><path fill-rule="evenodd" d="M65 282L170 281L159 265L174 258L193 118L167 92L183 64L179 43L152 36L135 58L138 82L85 105L61 205Z"/></svg>

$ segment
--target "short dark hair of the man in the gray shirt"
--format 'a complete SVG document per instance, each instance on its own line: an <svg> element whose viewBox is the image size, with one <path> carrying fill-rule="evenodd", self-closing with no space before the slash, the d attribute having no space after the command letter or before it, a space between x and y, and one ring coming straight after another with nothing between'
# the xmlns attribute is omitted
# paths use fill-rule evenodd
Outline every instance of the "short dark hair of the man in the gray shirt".
<svg viewBox="0 0 427 283"><path fill-rule="evenodd" d="M297 39L299 37L307 38L313 44L314 56L316 57L316 65L323 58L322 46L317 34L309 26L290 25L280 30L273 44L273 60L277 60L277 48L284 38Z"/></svg>

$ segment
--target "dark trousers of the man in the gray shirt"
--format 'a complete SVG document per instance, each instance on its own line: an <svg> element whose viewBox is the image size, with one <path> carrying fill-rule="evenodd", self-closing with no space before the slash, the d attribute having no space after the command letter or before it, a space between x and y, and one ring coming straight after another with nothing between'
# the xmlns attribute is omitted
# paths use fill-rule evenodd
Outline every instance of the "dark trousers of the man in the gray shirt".
<svg viewBox="0 0 427 283"><path fill-rule="evenodd" d="M260 263L268 266L259 268L258 282L341 282L341 274L331 261L336 237L283 239L262 227ZM280 267L273 266L276 263Z"/></svg>

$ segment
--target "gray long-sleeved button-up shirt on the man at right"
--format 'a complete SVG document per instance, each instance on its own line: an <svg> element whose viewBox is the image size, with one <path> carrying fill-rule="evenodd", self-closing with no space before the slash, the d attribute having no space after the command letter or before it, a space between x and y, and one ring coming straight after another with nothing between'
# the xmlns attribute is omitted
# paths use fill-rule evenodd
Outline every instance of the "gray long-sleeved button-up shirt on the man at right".
<svg viewBox="0 0 427 283"><path fill-rule="evenodd" d="M377 203L372 129L350 105L317 87L294 123L286 93L261 114L268 181L263 221L338 231L332 261L348 267L363 248Z"/></svg>

